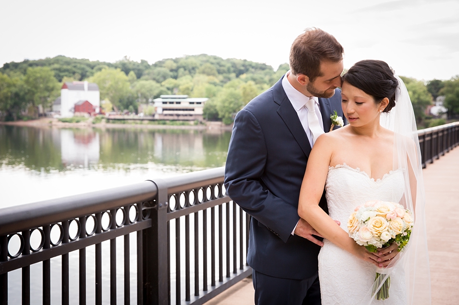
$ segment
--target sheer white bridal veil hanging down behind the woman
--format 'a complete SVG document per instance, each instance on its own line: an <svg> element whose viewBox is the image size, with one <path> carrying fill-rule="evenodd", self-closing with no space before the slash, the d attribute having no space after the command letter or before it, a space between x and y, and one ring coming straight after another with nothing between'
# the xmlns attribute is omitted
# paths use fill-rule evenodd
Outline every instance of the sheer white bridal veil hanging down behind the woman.
<svg viewBox="0 0 459 305"><path fill-rule="evenodd" d="M430 271L425 221L425 192L416 119L410 96L403 81L396 76L396 106L380 116L380 124L394 132L393 170L401 169L405 180L404 195L399 202L412 211L414 227L410 241L388 266L402 264L406 277L406 300L409 305L430 305ZM372 292L369 291L369 294ZM389 290L390 293L390 290ZM390 298L390 297L389 297ZM372 301L375 296L372 295ZM382 303L384 304L384 303Z"/></svg>

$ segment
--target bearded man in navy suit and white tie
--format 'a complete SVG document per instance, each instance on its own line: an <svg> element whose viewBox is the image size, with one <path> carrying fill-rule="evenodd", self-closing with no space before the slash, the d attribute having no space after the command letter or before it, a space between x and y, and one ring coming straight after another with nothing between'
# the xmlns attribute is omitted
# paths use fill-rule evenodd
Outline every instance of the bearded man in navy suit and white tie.
<svg viewBox="0 0 459 305"><path fill-rule="evenodd" d="M317 255L323 243L297 213L313 142L341 110L343 47L307 29L290 50L290 71L234 120L225 168L230 198L250 214L247 262L255 304L320 305ZM327 209L325 195L319 204Z"/></svg>

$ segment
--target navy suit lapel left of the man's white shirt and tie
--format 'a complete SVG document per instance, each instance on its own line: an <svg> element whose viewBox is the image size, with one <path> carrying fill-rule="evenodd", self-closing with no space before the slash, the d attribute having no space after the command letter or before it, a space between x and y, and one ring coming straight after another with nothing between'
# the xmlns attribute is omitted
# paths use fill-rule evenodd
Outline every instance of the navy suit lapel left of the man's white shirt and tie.
<svg viewBox="0 0 459 305"><path fill-rule="evenodd" d="M285 125L289 128L293 137L295 138L298 145L301 147L306 156L309 157L311 152L311 144L309 139L304 132L303 125L301 125L298 114L292 106L289 98L285 94L284 88L282 88L282 78L273 87L274 102L279 104L277 113L280 115Z"/></svg>

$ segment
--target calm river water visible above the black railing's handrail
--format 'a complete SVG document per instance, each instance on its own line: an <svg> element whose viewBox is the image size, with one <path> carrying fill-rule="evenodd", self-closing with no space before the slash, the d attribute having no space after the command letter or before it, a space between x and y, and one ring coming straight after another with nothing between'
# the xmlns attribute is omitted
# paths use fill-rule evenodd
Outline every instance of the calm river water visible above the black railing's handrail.
<svg viewBox="0 0 459 305"><path fill-rule="evenodd" d="M0 125L0 208L224 166L230 136Z"/></svg>

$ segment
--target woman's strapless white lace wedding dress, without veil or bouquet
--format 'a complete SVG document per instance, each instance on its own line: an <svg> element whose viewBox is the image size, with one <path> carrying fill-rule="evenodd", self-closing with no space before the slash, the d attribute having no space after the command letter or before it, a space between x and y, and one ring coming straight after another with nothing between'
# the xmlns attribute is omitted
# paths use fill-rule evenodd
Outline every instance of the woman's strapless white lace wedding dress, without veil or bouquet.
<svg viewBox="0 0 459 305"><path fill-rule="evenodd" d="M374 180L367 173L346 164L330 167L325 183L330 217L339 220L346 232L347 220L357 206L369 200L398 202L404 189L402 170L389 172ZM391 273L389 298L372 301L376 267L324 240L319 253L322 304L407 304L405 273L401 265L397 264Z"/></svg>

